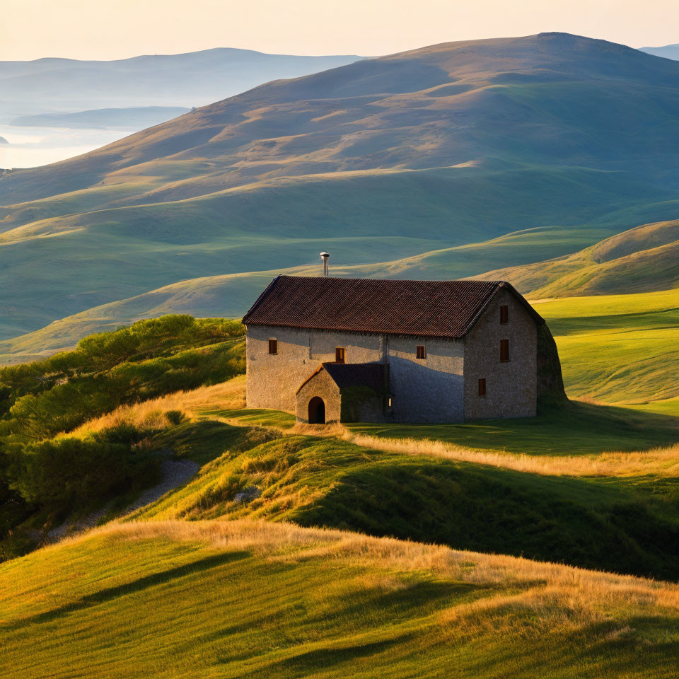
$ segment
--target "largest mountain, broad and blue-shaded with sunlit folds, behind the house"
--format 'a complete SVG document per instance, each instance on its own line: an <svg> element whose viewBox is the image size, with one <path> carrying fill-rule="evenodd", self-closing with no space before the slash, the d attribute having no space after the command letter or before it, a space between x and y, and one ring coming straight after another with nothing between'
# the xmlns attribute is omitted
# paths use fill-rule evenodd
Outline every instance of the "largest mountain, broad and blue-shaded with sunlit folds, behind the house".
<svg viewBox="0 0 679 679"><path fill-rule="evenodd" d="M563 33L267 83L5 173L0 336L323 249L432 278L573 253L679 214L678 156L679 63Z"/></svg>

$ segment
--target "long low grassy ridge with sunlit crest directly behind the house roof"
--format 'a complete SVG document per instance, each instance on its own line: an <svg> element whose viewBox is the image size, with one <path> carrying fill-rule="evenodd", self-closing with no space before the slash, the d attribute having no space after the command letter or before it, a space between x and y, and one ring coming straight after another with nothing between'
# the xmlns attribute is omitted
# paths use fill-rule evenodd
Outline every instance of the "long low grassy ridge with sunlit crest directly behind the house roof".
<svg viewBox="0 0 679 679"><path fill-rule="evenodd" d="M343 266L337 265L335 257L349 257L349 250L355 244L354 240L337 239L332 245L332 259L330 262L333 276L349 276L359 278L389 277L389 278L446 278L457 272L459 275L472 276L481 269L499 262L516 262L524 264L540 259L547 254L558 255L564 247L572 247L574 243L585 245L591 240L597 240L610 233L610 228L572 228L559 230L549 228L535 228L519 231L494 238L485 243L471 243L453 248L444 248L422 255L402 257L387 262ZM371 249L359 250L354 259L370 257L372 252L383 255L412 252L412 250L431 247L430 243L423 243L416 238L395 238L390 236L376 236L362 238L361 248L370 245ZM294 243L289 244L291 253ZM570 245L566 245L569 243ZM317 243L323 248L327 241ZM46 244L47 245L47 244ZM283 244L282 244L283 245ZM231 243L234 253L238 253L238 243ZM339 248L339 250L338 250ZM123 268L129 277L144 275L143 256L139 253L128 253L136 262L136 266ZM63 253L64 261L68 252ZM27 264L28 266L28 264ZM109 302L86 311L74 313L55 320L40 330L18 335L10 340L0 340L0 363L30 360L50 354L59 349L74 346L76 342L91 332L112 330L120 325L134 323L141 318L153 318L165 313L190 313L199 317L228 316L240 318L251 304L257 299L263 289L279 273L297 274L302 276L317 276L320 273L318 262L289 267L287 269L271 269L269 271L243 272L238 274L222 274L186 279L162 288L144 292L120 301ZM64 269L61 269L64 271ZM59 274L59 278L62 274ZM69 274L66 278L71 279ZM75 276L73 276L75 278ZM119 276L117 277L119 278ZM33 281L30 276L24 276L27 289L32 289ZM54 279L54 291L61 294L62 283ZM54 291L50 298L54 299ZM64 290L65 291L65 290ZM71 303L80 303L79 299ZM31 318L44 318L50 315L45 308L38 315L35 306L20 305L14 308L13 316L6 320L6 330L21 332L21 327Z"/></svg>

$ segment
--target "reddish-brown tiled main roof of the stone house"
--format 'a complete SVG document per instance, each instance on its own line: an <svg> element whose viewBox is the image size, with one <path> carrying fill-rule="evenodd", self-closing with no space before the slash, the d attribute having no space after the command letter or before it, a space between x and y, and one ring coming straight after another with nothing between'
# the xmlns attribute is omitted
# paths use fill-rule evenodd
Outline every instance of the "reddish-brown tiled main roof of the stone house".
<svg viewBox="0 0 679 679"><path fill-rule="evenodd" d="M417 337L463 337L501 281L393 281L279 276L245 314L246 325L379 332Z"/></svg>

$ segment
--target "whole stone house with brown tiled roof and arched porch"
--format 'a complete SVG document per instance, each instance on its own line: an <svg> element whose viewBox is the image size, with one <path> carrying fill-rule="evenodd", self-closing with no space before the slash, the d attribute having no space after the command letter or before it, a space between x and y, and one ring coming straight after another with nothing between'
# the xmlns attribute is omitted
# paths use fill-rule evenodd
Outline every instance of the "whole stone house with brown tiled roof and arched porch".
<svg viewBox="0 0 679 679"><path fill-rule="evenodd" d="M549 331L506 282L279 276L243 323L251 408L311 423L536 413Z"/></svg>

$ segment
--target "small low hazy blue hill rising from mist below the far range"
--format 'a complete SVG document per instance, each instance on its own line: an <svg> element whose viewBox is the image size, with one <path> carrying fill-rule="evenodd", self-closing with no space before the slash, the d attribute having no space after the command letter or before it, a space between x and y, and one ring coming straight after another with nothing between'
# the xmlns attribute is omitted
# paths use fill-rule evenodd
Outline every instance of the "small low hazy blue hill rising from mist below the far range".
<svg viewBox="0 0 679 679"><path fill-rule="evenodd" d="M144 129L184 115L189 109L180 106L144 106L141 108L103 108L75 113L40 113L20 115L11 121L18 127L88 127Z"/></svg>

